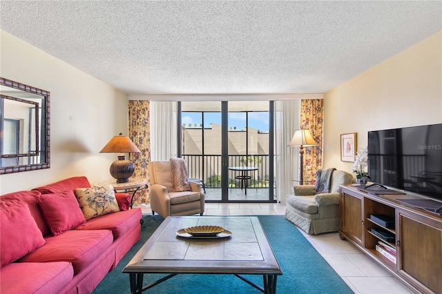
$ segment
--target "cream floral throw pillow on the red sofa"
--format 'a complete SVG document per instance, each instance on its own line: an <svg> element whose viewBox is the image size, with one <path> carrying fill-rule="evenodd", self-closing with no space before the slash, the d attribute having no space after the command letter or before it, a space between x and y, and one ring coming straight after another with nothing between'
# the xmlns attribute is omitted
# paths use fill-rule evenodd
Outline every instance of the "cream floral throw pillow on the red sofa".
<svg viewBox="0 0 442 294"><path fill-rule="evenodd" d="M119 211L113 186L75 189L84 218L91 219Z"/></svg>

